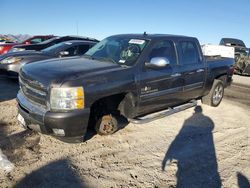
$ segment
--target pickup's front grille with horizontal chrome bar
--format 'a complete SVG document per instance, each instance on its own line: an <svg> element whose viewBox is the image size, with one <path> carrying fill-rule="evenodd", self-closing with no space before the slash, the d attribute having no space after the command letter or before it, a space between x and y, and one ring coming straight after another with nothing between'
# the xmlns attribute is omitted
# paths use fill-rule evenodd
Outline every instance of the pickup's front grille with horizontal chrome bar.
<svg viewBox="0 0 250 188"><path fill-rule="evenodd" d="M20 71L19 84L22 93L26 96L28 100L43 107L46 107L47 90L41 83L28 79Z"/></svg>

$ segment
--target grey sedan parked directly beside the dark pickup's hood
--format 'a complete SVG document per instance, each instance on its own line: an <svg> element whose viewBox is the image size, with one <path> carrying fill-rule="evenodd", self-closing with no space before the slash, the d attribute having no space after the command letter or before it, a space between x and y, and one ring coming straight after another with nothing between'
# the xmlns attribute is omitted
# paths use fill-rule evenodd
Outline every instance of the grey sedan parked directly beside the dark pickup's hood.
<svg viewBox="0 0 250 188"><path fill-rule="evenodd" d="M7 53L0 57L0 71L8 77L16 78L20 68L26 63L52 58L80 56L97 42L73 40L61 42L41 51L22 51Z"/></svg>

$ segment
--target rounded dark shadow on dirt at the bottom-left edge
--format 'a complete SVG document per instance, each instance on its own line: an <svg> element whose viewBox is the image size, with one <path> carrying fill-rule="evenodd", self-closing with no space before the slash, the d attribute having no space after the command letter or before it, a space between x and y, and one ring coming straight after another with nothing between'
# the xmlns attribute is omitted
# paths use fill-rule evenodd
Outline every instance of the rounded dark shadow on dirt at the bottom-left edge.
<svg viewBox="0 0 250 188"><path fill-rule="evenodd" d="M81 181L73 166L67 159L52 162L36 171L31 172L24 179L18 182L15 188L26 187L86 187Z"/></svg>

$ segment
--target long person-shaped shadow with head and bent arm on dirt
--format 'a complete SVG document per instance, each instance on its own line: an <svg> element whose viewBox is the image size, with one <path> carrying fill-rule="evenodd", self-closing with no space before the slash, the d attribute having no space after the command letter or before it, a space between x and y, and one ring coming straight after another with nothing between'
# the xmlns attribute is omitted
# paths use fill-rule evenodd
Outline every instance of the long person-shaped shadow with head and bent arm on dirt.
<svg viewBox="0 0 250 188"><path fill-rule="evenodd" d="M162 170L176 163L176 187L221 187L213 141L214 122L197 106L168 148Z"/></svg>

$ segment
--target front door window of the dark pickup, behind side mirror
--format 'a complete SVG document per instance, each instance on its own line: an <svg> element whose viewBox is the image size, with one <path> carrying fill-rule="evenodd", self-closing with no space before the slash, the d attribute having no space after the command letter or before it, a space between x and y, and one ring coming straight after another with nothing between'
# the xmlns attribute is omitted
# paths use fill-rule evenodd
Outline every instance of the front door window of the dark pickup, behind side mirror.
<svg viewBox="0 0 250 188"><path fill-rule="evenodd" d="M167 58L171 65L176 64L176 53L172 41L159 41L154 44L152 51L149 55L148 61L154 57Z"/></svg>

